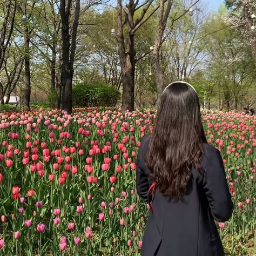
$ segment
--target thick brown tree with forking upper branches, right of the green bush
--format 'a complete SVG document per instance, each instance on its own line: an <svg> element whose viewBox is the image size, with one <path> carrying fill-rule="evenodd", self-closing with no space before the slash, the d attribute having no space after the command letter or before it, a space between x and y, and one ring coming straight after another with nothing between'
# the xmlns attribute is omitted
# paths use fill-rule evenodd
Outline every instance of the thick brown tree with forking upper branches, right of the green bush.
<svg viewBox="0 0 256 256"><path fill-rule="evenodd" d="M117 1L117 42L120 58L120 67L123 79L122 110L134 109L134 73L136 61L136 49L134 36L137 30L157 11L159 5L152 8L153 0L139 4L139 1L129 0L124 7L122 0ZM136 11L141 11L135 18ZM124 14L124 16L123 16ZM124 19L123 19L124 18ZM126 25L126 27L125 27ZM124 32L124 28L127 32Z"/></svg>

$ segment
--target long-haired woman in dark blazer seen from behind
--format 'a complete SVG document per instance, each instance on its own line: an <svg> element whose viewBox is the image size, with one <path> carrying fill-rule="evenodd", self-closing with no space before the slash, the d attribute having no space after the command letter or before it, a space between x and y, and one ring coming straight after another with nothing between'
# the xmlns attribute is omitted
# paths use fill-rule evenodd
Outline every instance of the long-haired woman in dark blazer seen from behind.
<svg viewBox="0 0 256 256"><path fill-rule="evenodd" d="M228 220L233 203L192 85L174 82L161 95L153 131L139 148L136 187L151 209L143 256L224 255L214 219Z"/></svg>

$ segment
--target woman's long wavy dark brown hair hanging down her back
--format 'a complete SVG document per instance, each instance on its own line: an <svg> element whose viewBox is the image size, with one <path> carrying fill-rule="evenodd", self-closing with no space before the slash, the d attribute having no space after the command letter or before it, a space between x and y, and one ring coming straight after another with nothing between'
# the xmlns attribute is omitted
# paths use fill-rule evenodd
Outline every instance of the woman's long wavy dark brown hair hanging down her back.
<svg viewBox="0 0 256 256"><path fill-rule="evenodd" d="M200 104L190 85L169 85L160 98L156 123L145 157L153 181L165 196L181 198L193 177L192 166L203 170L200 157L207 143Z"/></svg>

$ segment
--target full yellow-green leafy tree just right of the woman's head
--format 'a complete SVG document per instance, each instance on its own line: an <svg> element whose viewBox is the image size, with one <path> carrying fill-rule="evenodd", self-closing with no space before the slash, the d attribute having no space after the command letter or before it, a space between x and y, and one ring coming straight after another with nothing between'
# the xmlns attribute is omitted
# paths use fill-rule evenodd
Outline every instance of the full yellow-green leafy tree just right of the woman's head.
<svg viewBox="0 0 256 256"><path fill-rule="evenodd" d="M239 103L254 87L255 67L246 43L221 18L225 13L225 9L220 9L205 24L205 30L209 33L204 39L208 52L205 73L213 85L206 91L208 104L210 96L215 93L219 102L223 97L226 109L231 110L238 109Z"/></svg>

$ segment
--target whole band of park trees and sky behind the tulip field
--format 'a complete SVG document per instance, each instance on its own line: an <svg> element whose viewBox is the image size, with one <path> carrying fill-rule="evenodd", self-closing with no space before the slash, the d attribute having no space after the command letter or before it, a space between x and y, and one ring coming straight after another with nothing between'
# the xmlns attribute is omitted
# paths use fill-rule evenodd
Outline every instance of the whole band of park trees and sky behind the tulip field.
<svg viewBox="0 0 256 256"><path fill-rule="evenodd" d="M255 15L253 0L227 0L218 12L202 0L6 0L1 104L17 95L30 110L31 102L50 99L71 113L72 88L77 97L78 88L100 95L109 85L122 94L122 109L133 110L157 105L167 84L185 80L209 109L252 106Z"/></svg>

